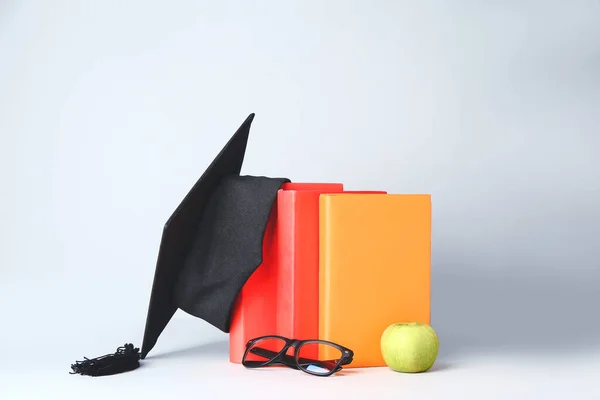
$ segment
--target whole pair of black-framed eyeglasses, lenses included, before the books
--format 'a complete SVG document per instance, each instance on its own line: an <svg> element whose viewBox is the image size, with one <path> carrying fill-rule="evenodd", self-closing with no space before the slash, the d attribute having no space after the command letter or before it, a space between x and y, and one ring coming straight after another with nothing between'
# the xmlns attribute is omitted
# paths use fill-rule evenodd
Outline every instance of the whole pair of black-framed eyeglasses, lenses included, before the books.
<svg viewBox="0 0 600 400"><path fill-rule="evenodd" d="M294 354L289 355L288 350ZM352 362L354 352L326 340L297 340L283 336L261 336L246 344L242 365L261 368L285 365L311 375L330 376Z"/></svg>

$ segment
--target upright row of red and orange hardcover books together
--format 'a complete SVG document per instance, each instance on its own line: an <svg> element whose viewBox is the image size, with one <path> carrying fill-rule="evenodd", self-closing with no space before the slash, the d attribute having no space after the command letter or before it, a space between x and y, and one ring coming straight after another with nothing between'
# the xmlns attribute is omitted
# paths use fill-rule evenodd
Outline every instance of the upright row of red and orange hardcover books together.
<svg viewBox="0 0 600 400"><path fill-rule="evenodd" d="M249 339L281 335L349 347L351 367L385 366L387 326L430 323L430 265L430 195L285 184L263 263L233 310L230 361L241 362Z"/></svg>

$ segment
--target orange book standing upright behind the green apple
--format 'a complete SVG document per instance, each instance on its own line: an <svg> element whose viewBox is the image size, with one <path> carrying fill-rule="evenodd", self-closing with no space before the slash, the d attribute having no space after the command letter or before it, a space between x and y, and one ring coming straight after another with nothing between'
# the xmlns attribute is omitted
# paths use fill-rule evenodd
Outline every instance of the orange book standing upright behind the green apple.
<svg viewBox="0 0 600 400"><path fill-rule="evenodd" d="M385 366L385 328L430 323L431 196L323 194L319 206L319 338L354 350L349 367Z"/></svg>

